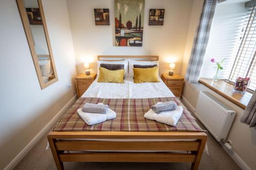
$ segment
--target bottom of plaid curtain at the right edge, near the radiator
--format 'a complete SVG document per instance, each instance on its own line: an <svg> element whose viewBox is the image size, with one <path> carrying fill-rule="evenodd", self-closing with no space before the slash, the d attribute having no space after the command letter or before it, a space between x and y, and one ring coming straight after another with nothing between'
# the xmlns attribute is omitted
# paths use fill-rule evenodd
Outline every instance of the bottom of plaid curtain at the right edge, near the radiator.
<svg viewBox="0 0 256 170"><path fill-rule="evenodd" d="M249 125L249 127L256 127L256 94L255 91L251 97L250 102L245 108L244 114L240 119L241 123Z"/></svg>

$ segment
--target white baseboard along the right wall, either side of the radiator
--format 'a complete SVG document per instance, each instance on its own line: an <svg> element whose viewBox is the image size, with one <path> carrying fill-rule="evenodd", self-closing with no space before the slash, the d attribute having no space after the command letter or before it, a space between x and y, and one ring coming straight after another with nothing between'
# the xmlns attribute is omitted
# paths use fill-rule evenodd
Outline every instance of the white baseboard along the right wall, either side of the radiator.
<svg viewBox="0 0 256 170"><path fill-rule="evenodd" d="M193 113L196 112L196 109L182 96L181 98L182 103L190 109ZM228 153L228 155L240 166L241 169L243 170L251 170L250 167L240 158L240 156L234 152L234 151L229 151L223 143L221 143L222 148Z"/></svg>

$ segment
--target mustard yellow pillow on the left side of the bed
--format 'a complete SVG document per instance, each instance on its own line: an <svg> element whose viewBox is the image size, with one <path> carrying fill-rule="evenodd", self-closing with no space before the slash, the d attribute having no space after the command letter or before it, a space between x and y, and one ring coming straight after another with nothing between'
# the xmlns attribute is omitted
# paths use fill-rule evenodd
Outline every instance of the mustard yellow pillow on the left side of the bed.
<svg viewBox="0 0 256 170"><path fill-rule="evenodd" d="M101 83L124 83L124 69L109 70L104 67L99 67L98 82Z"/></svg>

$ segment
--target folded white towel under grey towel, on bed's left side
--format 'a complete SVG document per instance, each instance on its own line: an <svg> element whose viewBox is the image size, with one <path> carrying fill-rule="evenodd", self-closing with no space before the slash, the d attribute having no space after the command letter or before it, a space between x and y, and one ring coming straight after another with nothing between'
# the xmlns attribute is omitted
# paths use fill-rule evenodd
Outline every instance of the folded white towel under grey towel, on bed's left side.
<svg viewBox="0 0 256 170"><path fill-rule="evenodd" d="M114 112L110 108L108 109L106 114L83 112L81 108L78 109L77 112L87 125L95 125L106 120L116 118L116 112Z"/></svg>

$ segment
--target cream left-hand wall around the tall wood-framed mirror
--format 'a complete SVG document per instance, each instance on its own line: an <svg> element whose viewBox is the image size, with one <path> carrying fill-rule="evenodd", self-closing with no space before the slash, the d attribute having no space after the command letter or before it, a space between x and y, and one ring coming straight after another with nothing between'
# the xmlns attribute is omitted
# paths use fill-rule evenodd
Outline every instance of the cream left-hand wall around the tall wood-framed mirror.
<svg viewBox="0 0 256 170"><path fill-rule="evenodd" d="M76 75L66 1L42 3L59 78L44 90L40 89L16 1L0 1L0 169L75 95L74 88L66 89Z"/></svg>

